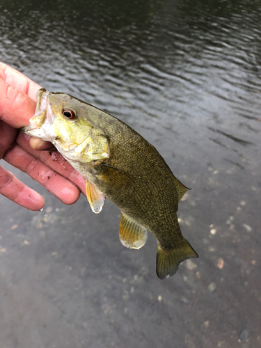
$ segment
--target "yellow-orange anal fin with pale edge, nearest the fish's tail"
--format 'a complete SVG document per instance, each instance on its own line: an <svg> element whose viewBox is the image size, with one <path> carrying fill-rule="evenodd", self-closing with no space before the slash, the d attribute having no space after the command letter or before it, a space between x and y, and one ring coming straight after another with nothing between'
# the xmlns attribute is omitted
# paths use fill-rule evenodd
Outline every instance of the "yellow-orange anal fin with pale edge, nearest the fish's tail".
<svg viewBox="0 0 261 348"><path fill-rule="evenodd" d="M121 213L119 236L121 244L126 248L139 249L145 244L148 232L129 216Z"/></svg>

